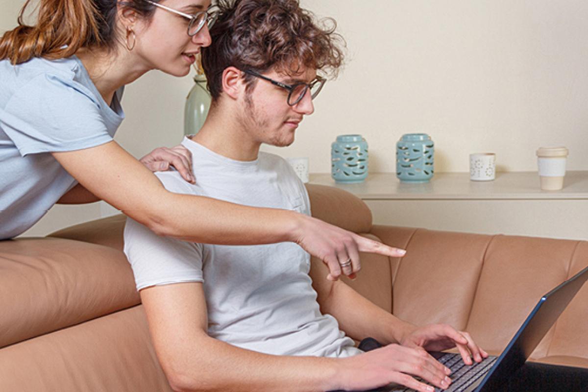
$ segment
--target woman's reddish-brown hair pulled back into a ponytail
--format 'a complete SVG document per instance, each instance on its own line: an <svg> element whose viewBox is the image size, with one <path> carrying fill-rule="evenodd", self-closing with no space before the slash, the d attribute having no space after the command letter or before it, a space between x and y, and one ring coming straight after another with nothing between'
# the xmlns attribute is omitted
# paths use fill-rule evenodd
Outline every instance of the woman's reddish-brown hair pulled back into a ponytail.
<svg viewBox="0 0 588 392"><path fill-rule="evenodd" d="M113 48L118 6L132 8L143 16L155 8L144 0L41 0L38 21L28 26L24 14L30 3L26 0L22 6L18 26L0 38L0 60L9 59L16 65L34 57L66 58L80 48Z"/></svg>

